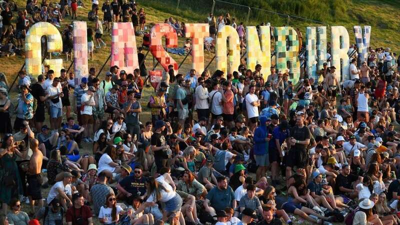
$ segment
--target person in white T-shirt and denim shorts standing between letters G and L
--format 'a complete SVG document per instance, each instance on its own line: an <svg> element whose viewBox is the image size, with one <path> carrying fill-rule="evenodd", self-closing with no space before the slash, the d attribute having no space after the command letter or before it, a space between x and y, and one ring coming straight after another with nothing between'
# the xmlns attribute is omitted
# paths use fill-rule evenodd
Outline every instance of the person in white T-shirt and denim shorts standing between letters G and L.
<svg viewBox="0 0 400 225"><path fill-rule="evenodd" d="M48 98L50 99L50 120L51 129L57 130L61 126L62 119L62 102L63 96L61 87L59 85L59 78L55 77L51 86L47 87Z"/></svg>

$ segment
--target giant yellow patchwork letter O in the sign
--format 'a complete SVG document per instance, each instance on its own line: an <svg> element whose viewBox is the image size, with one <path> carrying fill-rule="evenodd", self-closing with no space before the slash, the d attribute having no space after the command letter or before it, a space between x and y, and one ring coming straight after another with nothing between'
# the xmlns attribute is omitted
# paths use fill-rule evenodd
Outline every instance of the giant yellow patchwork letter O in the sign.
<svg viewBox="0 0 400 225"><path fill-rule="evenodd" d="M228 58L226 57L226 39L228 39ZM239 35L232 26L223 26L216 33L215 45L216 68L230 74L237 70L240 64ZM228 68L229 65L229 68Z"/></svg>

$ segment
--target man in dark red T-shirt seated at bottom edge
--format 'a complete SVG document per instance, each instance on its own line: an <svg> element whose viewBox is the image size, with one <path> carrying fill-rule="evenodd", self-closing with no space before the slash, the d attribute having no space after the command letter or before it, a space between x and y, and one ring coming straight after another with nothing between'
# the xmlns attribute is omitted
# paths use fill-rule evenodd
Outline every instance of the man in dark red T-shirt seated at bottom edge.
<svg viewBox="0 0 400 225"><path fill-rule="evenodd" d="M72 195L72 207L66 210L65 221L68 225L93 225L90 207L84 204L80 193Z"/></svg>

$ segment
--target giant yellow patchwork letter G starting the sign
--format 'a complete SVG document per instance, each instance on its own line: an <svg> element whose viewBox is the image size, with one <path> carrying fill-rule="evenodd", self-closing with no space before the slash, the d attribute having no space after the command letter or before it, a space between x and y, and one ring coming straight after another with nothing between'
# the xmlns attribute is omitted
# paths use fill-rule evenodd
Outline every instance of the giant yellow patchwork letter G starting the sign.
<svg viewBox="0 0 400 225"><path fill-rule="evenodd" d="M26 33L25 37L25 66L26 73L31 75L41 74L41 36L47 36L47 52L62 51L61 34L49 22L36 22ZM60 63L62 59L49 59L49 64ZM55 71L55 70L54 70ZM59 74L59 71L58 71Z"/></svg>

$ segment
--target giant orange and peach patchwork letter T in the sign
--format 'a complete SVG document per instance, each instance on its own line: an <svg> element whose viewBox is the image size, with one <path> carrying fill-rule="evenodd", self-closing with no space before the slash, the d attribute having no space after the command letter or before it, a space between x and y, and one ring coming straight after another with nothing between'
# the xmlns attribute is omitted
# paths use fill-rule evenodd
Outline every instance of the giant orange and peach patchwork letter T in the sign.
<svg viewBox="0 0 400 225"><path fill-rule="evenodd" d="M192 68L198 76L204 71L204 37L209 36L207 23L186 23L186 37L191 38Z"/></svg>

